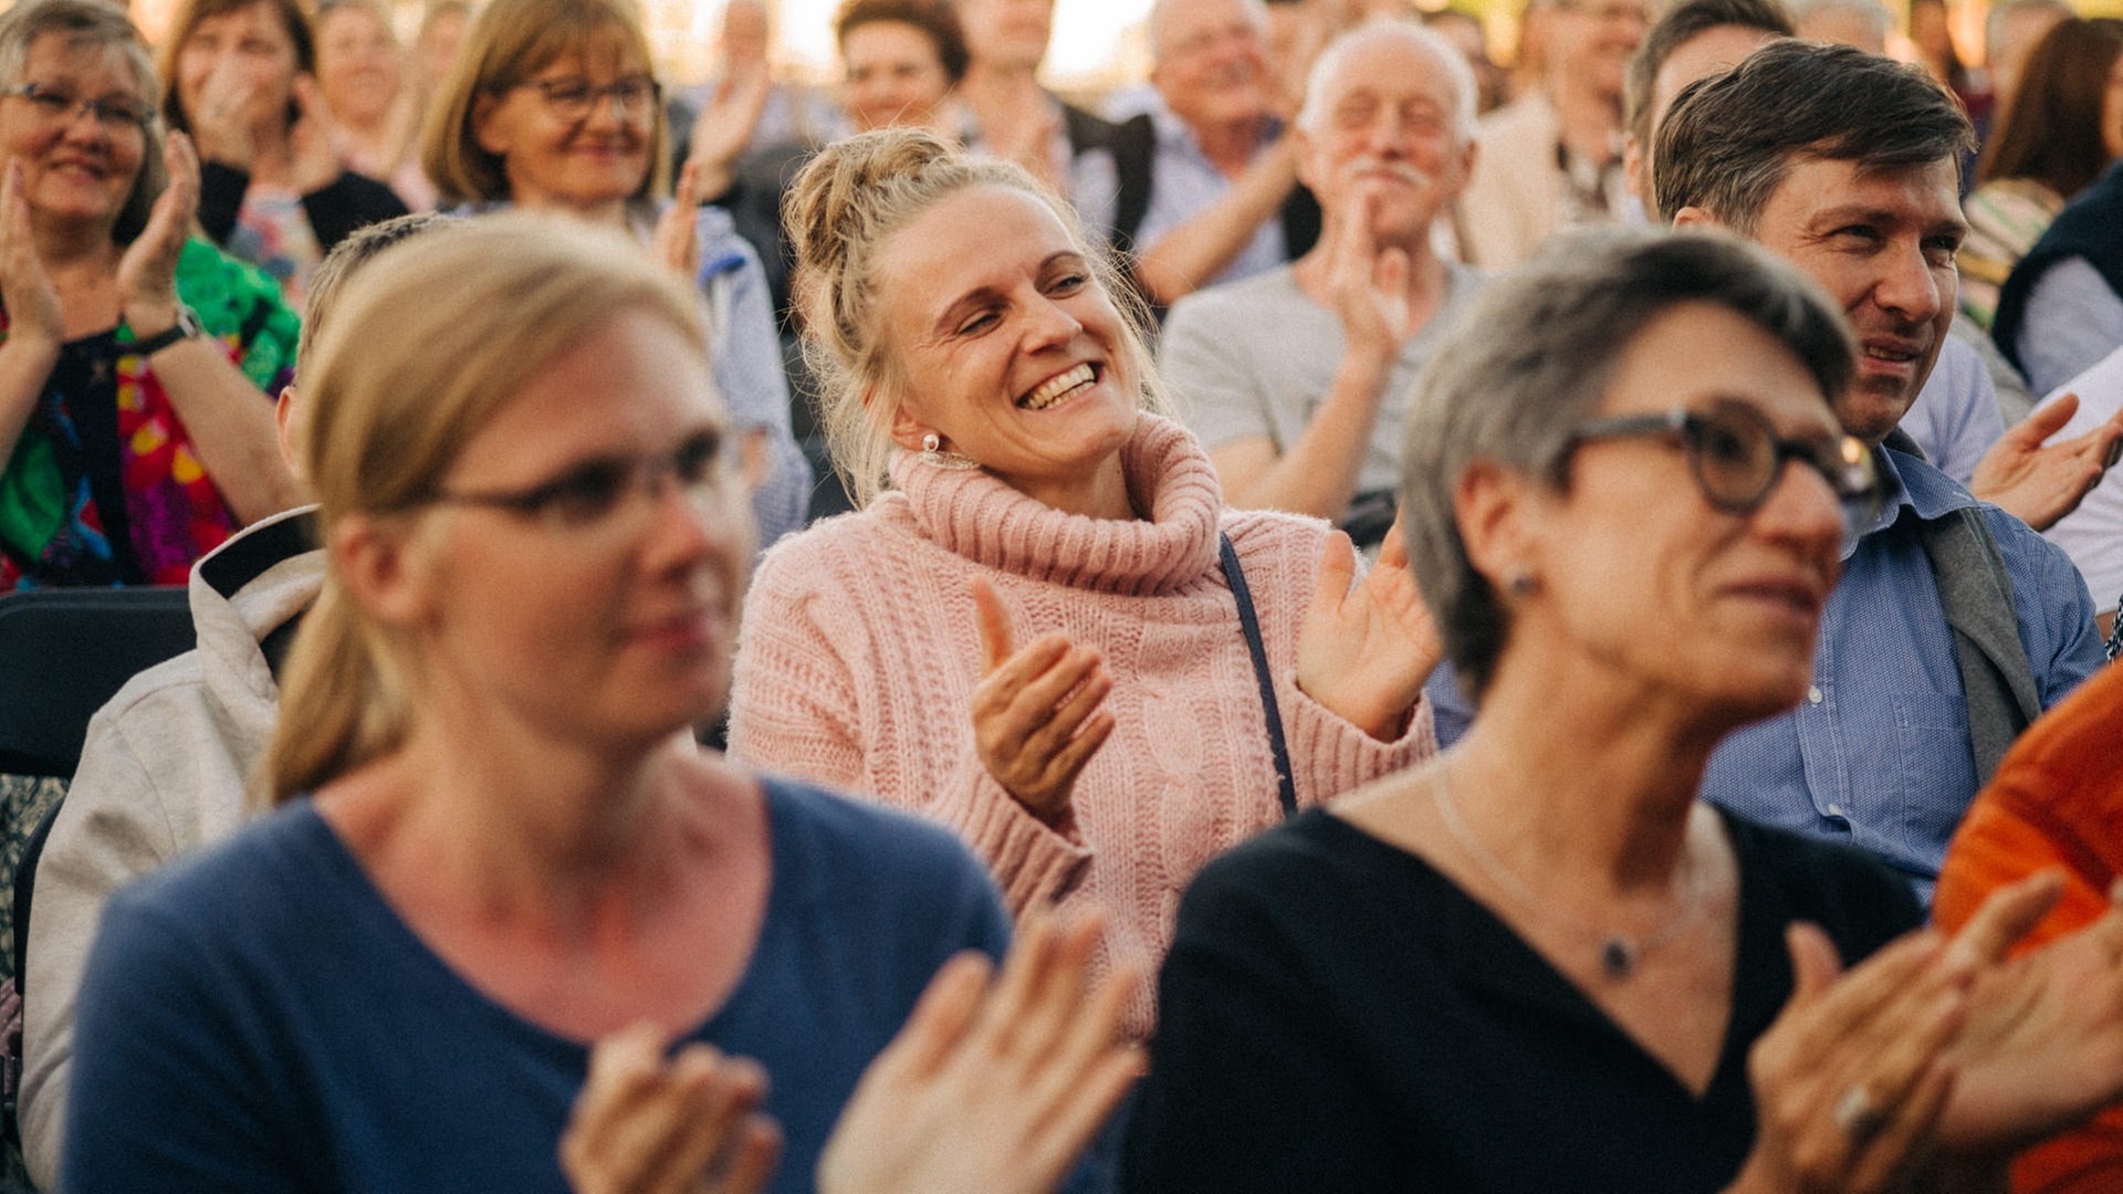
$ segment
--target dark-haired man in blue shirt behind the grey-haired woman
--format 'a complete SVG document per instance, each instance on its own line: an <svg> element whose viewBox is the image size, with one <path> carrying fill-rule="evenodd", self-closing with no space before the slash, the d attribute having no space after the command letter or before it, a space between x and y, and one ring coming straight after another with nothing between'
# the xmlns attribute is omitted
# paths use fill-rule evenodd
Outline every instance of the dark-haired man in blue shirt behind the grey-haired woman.
<svg viewBox="0 0 2123 1194"><path fill-rule="evenodd" d="M2004 746L2102 661L2061 550L1883 446L1947 342L1970 138L1921 70L1785 40L1681 91L1652 170L1675 227L1747 236L1843 306L1860 359L1836 416L1892 487L1845 557L1807 703L1726 739L1703 795L1866 848L1919 886ZM2104 450L2027 446L2025 463L2083 467L2091 453L2098 476Z"/></svg>

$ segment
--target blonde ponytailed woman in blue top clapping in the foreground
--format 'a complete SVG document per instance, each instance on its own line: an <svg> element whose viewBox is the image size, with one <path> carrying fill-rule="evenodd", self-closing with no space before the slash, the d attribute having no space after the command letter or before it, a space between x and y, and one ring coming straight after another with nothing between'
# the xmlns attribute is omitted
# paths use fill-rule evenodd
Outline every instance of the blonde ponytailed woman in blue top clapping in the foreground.
<svg viewBox="0 0 2123 1194"><path fill-rule="evenodd" d="M924 984L1006 922L949 835L694 744L752 535L692 295L609 234L480 221L352 278L306 402L327 580L282 807L104 914L68 1188L743 1192L786 1149L773 1188L809 1190ZM875 1141L953 1137L875 1124L1008 1073L966 1026L991 1005L1074 1090L964 1103L1011 1120L1004 1188L1051 1183L1134 1073L1093 937L1032 933L985 1003L953 960L830 1188L919 1188Z"/></svg>

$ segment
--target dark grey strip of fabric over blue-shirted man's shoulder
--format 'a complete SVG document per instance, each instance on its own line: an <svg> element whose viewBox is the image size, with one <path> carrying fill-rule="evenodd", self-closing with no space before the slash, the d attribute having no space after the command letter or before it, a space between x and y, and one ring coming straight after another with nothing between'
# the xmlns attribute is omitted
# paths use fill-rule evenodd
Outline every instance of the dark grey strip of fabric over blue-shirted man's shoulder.
<svg viewBox="0 0 2123 1194"><path fill-rule="evenodd" d="M1921 523L1938 603L1953 629L1953 661L1968 701L1968 744L1977 782L1989 784L1998 761L2042 716L2040 690L2013 614L2013 578L1974 506Z"/></svg>

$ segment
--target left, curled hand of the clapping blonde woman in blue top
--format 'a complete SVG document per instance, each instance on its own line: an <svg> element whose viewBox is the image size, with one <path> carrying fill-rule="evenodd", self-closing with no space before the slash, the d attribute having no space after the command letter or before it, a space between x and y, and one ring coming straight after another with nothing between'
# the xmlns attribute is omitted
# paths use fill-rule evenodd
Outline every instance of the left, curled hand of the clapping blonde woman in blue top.
<svg viewBox="0 0 2123 1194"><path fill-rule="evenodd" d="M654 1024L614 1033L590 1052L590 1079L560 1135L575 1194L756 1194L781 1156L760 1115L766 1073L692 1043L664 1058Z"/></svg>

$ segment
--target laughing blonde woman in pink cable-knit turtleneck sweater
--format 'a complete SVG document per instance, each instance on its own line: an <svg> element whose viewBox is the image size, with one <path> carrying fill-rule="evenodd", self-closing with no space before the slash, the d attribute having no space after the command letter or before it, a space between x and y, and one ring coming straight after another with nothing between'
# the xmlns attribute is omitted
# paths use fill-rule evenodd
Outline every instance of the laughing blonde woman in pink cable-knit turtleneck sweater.
<svg viewBox="0 0 2123 1194"><path fill-rule="evenodd" d="M1102 903L1106 962L1155 969L1210 856L1431 754L1399 540L1354 582L1327 523L1225 510L1062 200L887 130L786 219L862 510L760 565L735 756L953 826L1013 914Z"/></svg>

